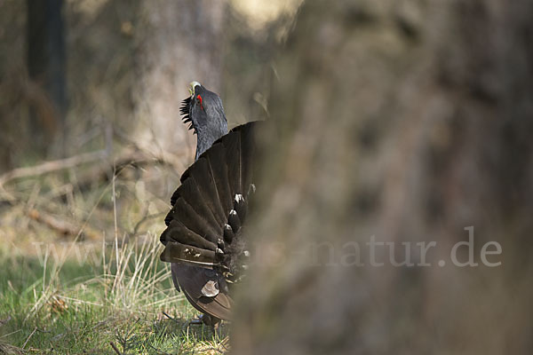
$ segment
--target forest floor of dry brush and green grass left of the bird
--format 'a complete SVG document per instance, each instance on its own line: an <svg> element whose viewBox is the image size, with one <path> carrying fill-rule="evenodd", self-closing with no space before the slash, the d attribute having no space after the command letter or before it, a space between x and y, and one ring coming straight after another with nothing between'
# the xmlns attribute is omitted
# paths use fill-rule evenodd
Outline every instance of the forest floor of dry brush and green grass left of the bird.
<svg viewBox="0 0 533 355"><path fill-rule="evenodd" d="M227 324L189 325L198 314L159 261L168 204L149 178L119 177L81 189L62 170L4 190L0 354L227 352Z"/></svg>

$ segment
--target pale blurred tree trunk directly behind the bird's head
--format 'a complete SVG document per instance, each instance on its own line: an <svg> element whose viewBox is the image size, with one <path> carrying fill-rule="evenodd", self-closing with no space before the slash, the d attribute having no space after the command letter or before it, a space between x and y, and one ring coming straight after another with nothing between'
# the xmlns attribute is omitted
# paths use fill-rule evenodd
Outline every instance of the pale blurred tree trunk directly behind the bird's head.
<svg viewBox="0 0 533 355"><path fill-rule="evenodd" d="M190 132L179 106L194 80L219 91L225 13L226 1L142 1L135 100L145 145L172 153L186 148Z"/></svg>

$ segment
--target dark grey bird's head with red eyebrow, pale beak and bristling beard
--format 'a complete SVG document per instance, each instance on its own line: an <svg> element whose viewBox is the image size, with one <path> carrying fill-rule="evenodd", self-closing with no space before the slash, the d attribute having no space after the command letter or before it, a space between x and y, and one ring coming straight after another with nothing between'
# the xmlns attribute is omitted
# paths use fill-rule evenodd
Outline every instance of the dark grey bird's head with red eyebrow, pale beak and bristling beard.
<svg viewBox="0 0 533 355"><path fill-rule="evenodd" d="M190 122L189 130L195 134L217 136L227 133L227 120L219 95L207 90L201 83L190 83L190 97L183 100L180 108L183 122Z"/></svg>

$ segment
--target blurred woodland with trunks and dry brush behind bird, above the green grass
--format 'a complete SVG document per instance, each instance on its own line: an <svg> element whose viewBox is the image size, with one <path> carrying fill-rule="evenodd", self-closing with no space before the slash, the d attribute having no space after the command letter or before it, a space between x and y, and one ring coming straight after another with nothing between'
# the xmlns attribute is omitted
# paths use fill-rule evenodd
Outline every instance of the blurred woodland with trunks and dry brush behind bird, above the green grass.
<svg viewBox="0 0 533 355"><path fill-rule="evenodd" d="M299 3L1 2L3 233L113 232L111 198L96 199L114 176L121 233L160 219L195 153L179 116L188 83L219 92L230 127L264 118Z"/></svg>

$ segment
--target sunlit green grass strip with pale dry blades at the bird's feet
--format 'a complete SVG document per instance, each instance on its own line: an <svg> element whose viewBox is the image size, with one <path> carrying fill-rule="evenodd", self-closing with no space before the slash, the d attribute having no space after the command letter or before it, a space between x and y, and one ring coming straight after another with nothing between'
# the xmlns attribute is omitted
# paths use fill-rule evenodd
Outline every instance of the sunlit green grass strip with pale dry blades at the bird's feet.
<svg viewBox="0 0 533 355"><path fill-rule="evenodd" d="M50 247L40 258L3 253L0 344L12 353L115 354L111 343L131 354L224 351L225 327L188 326L195 312L173 289L168 265L158 262L155 235L117 245L99 254L84 246L93 254L78 260L78 244L70 255Z"/></svg>

